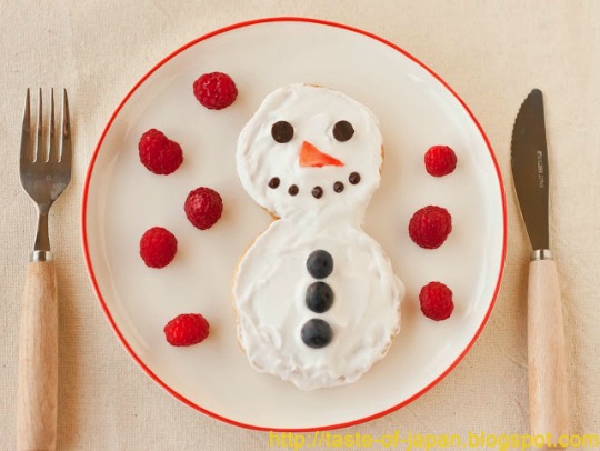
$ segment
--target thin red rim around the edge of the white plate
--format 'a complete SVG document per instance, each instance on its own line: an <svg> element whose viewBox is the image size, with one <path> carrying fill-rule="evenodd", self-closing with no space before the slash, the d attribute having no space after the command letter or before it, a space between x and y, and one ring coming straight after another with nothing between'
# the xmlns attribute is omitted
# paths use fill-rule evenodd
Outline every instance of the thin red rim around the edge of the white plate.
<svg viewBox="0 0 600 451"><path fill-rule="evenodd" d="M266 428L266 427L260 427L260 425L256 425L256 424L247 424L247 423L241 423L239 421L234 421L234 420L231 420L229 418L226 418L226 417L222 417L222 415L219 415L218 413L214 413L214 412L211 412L204 408L202 408L201 405L198 405L196 404L194 402L190 401L189 399L184 398L183 395L181 395L180 393L178 393L177 391L174 391L172 388L170 388L166 382L163 382L160 378L158 378L147 365L146 363L143 363L143 361L136 354L136 352L133 351L133 349L131 349L131 347L129 345L129 343L127 342L127 340L124 339L123 334L121 333L121 331L119 330L119 328L117 327L117 323L114 322L109 309L108 309L108 305L107 303L104 302L104 299L102 298L102 293L100 292L100 289L99 289L99 285L98 285L98 281L96 279L96 274L93 272L93 268L92 268L92 263L91 263L91 258L90 258L90 252L89 252L89 248L88 248L88 235L87 235L87 232L86 232L86 223L87 223L87 211L88 211L88 194L89 194L89 187L90 187L90 179L92 177L92 172L93 172L93 168L94 168L94 164L96 164L96 159L98 157L98 153L100 151L100 148L102 147L102 142L104 141L104 138L108 133L108 130L110 129L110 127L112 126L112 122L114 121L114 119L117 118L117 116L119 114L119 112L121 111L121 109L123 108L123 106L127 103L127 101L129 100L129 98L136 92L136 90L157 70L159 69L160 67L162 67L164 63L167 63L169 60L171 60L172 58L174 58L176 56L178 56L179 53L183 52L184 50L187 50L188 48L192 47L192 46L196 46L197 43L201 42L201 41L204 41L207 39L210 39L214 36L218 36L218 34L222 34L222 33L226 33L228 31L231 31L231 30L236 30L236 29L240 29L240 28L244 28L244 27L250 27L250 26L254 26L254 24L260 24L260 23L268 23L268 22L308 22L308 23L317 23L317 24L321 24L321 26L327 26L327 27L334 27L334 28L339 28L339 29L342 29L342 30L347 30L347 31L351 31L351 32L354 32L354 33L359 33L359 34L362 34L367 38L371 38L371 39L374 39L388 47L391 47L392 49L397 50L398 52L402 53L404 57L409 58L410 60L414 61L417 64L421 66L423 69L426 69L431 76L433 76L436 78L436 80L438 80L440 83L442 83L442 86L449 91L452 93L452 96L454 96L454 98L460 102L460 104L462 106L462 108L464 108L464 110L467 111L467 113L469 114L469 117L471 118L471 120L473 121L473 123L477 126L477 128L479 129L479 132L481 133L481 137L483 138L484 142L486 142L486 146L488 147L488 150L490 152L490 157L492 159L492 162L493 162L493 166L496 168L496 172L497 172L497 176L498 176L498 182L499 182L499 188L500 188L500 193L501 193L501 198L502 198L502 255L501 255L501 261L500 261L500 269L499 269L499 273L498 273L498 279L497 279L497 283L496 283L496 288L494 288L494 292L493 292L493 297L492 297L492 300L490 302L490 307L488 309L488 311L486 312L486 317L483 318L483 321L481 322L479 329L477 330L476 334L473 335L473 338L471 339L471 341L469 342L469 344L467 345L467 348L460 353L460 355L452 362L452 364L450 364L450 367L448 367L448 369L446 369L446 371L443 371L436 380L433 380L431 383L429 383L427 387L424 387L423 389L421 389L419 392L414 393L412 397L410 397L409 399L400 402L399 404L397 405L393 405L387 410L383 410L379 413L376 413L376 414L372 414L372 415L369 415L369 417L364 417L364 418L360 418L360 419L357 419L357 420L353 420L353 421L348 421L348 422L344 422L344 423L339 423L339 424L328 424L328 425L323 425L323 427L314 427L314 428L298 428L298 429L294 429L294 428L290 428L290 429L280 429L280 428ZM86 181L84 181L84 184L83 184L83 197L82 197L82 208L81 208L81 233L82 233L82 245L83 245L83 254L84 254L84 259L86 259L86 267L88 269L88 274L89 274L89 278L91 280L91 283L92 283L92 287L93 287L93 290L96 292L96 297L98 298L99 302L100 302L100 305L102 308L102 310L104 311L104 314L110 323L110 325L112 327L112 330L114 331L114 333L119 337L119 340L121 341L121 344L127 349L127 351L129 352L129 354L132 357L132 359L142 368L142 370L154 381L157 382L160 387L162 387L164 390L167 390L169 393L171 393L174 398L177 398L178 400L180 400L181 402L183 402L184 404L188 404L189 407L202 412L202 413L206 413L207 415L210 415L212 418L216 418L218 420L221 420L226 423L229 423L229 424L232 424L232 425L237 425L237 427L241 427L241 428L246 428L246 429L252 429L252 430L259 430L259 431L277 431L277 432L313 432L313 431L322 431L322 430L331 430L331 429L339 429L339 428L348 428L348 427L351 427L351 425L356 425L356 424L361 424L361 423L364 423L364 422L368 422L368 421L371 421L371 420L374 420L374 419L378 419L378 418L381 418L381 417L384 417L409 403L411 403L412 401L414 401L416 399L418 399L419 397L421 397L423 393L426 393L427 391L429 391L432 387L434 387L436 384L438 384L443 378L446 378L457 365L458 363L464 358L464 355L469 352L469 350L472 348L472 345L474 344L474 342L477 341L477 339L479 338L479 335L481 334L481 331L483 330L486 323L488 322L488 319L493 310L493 305L496 304L496 299L498 297L498 292L500 290L500 281L502 279L502 273L503 273L503 269L504 269L504 261L506 261L506 254L507 254L507 202L506 202L506 193L504 193L504 187L503 187L503 183L502 183L502 176L500 173L500 168L498 166L498 161L496 160L496 157L494 157L494 153L493 153L493 150L492 150L492 147L490 144L490 141L488 140L488 137L486 136L481 124L478 122L478 120L476 119L476 117L473 116L473 113L471 112L471 110L469 109L469 107L467 107L467 104L464 103L464 101L454 92L454 90L452 88L450 88L450 86L441 78L439 77L436 72L433 72L430 68L428 68L424 63L422 63L421 61L419 61L417 58L414 58L413 56L411 56L410 53L408 53L407 51L404 51L403 49L401 49L400 47L396 46L394 43L383 39L383 38L380 38L373 33L370 33L368 31L363 31L363 30L360 30L360 29L357 29L357 28L353 28L353 27L349 27L349 26L346 26L346 24L341 24L341 23L336 23L336 22L330 22L330 21L326 21L326 20L320 20L320 19L312 19L312 18L300 18L300 17L273 17L273 18L264 18L264 19L256 19L256 20L249 20L249 21L244 21L244 22L240 22L240 23L236 23L236 24L232 24L232 26L229 26L229 27L224 27L224 28L221 28L221 29L218 29L216 31L212 31L208 34L204 34L187 44L184 44L183 47L179 48L178 50L173 51L171 54L169 54L168 57L163 58L159 63L157 63L152 69L150 69L150 71L143 76L137 83L136 86L128 92L128 94L124 97L124 99L121 101L121 103L119 103L119 106L117 107L117 109L114 110L114 112L112 113L109 122L107 123L107 126L104 127L104 130L102 131L102 134L100 137L100 140L98 141L98 144L96 146L96 149L94 149L94 152L93 152L93 156L91 158L91 161L90 161L90 164L88 167L88 171L87 171L87 174L86 174Z"/></svg>

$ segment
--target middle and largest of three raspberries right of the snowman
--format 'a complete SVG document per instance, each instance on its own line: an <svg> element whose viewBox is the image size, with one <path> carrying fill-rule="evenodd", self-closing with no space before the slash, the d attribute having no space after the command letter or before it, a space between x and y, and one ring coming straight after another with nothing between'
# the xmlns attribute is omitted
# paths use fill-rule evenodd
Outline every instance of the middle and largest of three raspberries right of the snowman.
<svg viewBox="0 0 600 451"><path fill-rule="evenodd" d="M418 210L409 222L412 241L424 249L437 249L452 231L452 217L442 207L428 206Z"/></svg>

